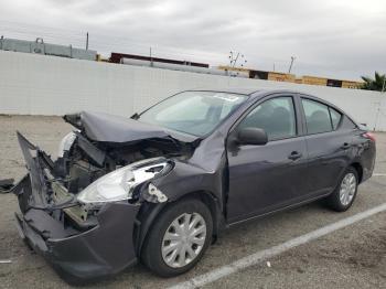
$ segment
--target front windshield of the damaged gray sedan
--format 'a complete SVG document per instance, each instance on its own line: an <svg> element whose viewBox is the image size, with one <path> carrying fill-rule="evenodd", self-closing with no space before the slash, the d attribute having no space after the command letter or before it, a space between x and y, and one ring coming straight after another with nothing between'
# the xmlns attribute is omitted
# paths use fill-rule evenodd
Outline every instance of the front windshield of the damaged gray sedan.
<svg viewBox="0 0 386 289"><path fill-rule="evenodd" d="M140 115L139 121L203 137L246 98L218 92L184 92L149 108Z"/></svg>

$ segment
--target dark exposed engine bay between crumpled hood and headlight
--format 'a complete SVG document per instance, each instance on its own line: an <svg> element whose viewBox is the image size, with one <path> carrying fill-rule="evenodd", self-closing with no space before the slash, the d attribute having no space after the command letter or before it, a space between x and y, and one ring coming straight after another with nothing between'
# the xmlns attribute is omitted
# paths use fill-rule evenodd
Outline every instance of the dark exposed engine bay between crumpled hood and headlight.
<svg viewBox="0 0 386 289"><path fill-rule="evenodd" d="M69 150L63 152L54 163L56 178L65 181L69 193L77 194L90 183L112 172L141 160L181 157L181 148L171 140L142 140L129 144L105 144L88 141L81 132ZM67 136L71 137L71 136ZM157 168L151 172L157 173Z"/></svg>

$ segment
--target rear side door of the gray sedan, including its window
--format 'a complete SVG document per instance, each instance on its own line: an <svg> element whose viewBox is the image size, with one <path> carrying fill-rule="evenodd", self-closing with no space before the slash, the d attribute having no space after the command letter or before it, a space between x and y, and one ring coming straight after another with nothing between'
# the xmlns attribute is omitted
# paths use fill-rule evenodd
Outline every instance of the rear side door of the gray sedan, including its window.
<svg viewBox="0 0 386 289"><path fill-rule="evenodd" d="M337 180L349 165L352 149L352 131L340 130L343 114L333 107L301 97L305 124L305 142L309 159L309 191L323 195L335 189Z"/></svg>

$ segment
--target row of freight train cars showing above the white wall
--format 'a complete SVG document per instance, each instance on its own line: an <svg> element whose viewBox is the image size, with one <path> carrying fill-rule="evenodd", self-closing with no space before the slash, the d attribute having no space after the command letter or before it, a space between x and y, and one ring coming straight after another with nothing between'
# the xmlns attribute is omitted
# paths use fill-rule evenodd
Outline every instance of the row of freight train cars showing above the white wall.
<svg viewBox="0 0 386 289"><path fill-rule="evenodd" d="M267 72L228 65L211 67L210 64L206 63L197 63L186 60L161 58L153 57L151 55L136 55L112 52L109 58L104 58L97 54L96 51L77 49L73 47L72 45L66 46L58 44L49 44L45 43L43 39L36 39L35 41L25 41L4 39L1 36L0 50L272 82L286 82L342 88L361 88L363 86L363 83L354 81L342 81L309 75L297 77L294 74L290 73Z"/></svg>

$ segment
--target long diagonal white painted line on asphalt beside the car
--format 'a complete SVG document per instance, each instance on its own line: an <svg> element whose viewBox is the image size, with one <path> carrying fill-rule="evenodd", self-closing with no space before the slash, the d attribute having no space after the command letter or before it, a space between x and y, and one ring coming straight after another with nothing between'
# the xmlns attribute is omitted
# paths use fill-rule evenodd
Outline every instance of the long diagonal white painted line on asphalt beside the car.
<svg viewBox="0 0 386 289"><path fill-rule="evenodd" d="M321 227L319 229L312 231L305 235L296 237L293 239L287 240L280 245L274 246L269 249L257 251L253 255L246 256L242 259L238 259L229 265L225 265L223 267L219 267L217 269L214 269L212 271L208 271L206 274L200 275L197 277L194 277L187 281L176 283L175 286L170 287L170 289L189 289L189 288L197 288L207 283L211 283L213 281L216 281L223 277L226 277L230 274L240 271L245 268L248 268L250 266L257 265L268 258L272 258L286 250L289 250L291 248L298 247L300 245L303 245L310 240L314 240L317 238L320 238L322 236L325 236L332 232L335 232L340 228L350 226L358 221L362 221L364 218L367 218L369 216L373 216L377 213L386 211L386 203L369 208L367 211L364 211L362 213L355 214L353 216L343 218L341 221L337 221L336 223L326 225L324 227Z"/></svg>

